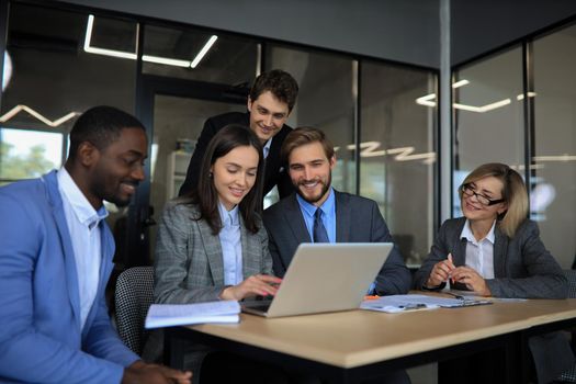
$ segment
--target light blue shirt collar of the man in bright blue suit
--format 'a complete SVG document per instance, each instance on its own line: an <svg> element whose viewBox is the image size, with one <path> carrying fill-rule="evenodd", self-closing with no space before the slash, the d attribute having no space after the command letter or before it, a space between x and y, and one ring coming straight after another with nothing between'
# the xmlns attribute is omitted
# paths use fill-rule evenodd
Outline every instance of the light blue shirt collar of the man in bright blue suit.
<svg viewBox="0 0 576 384"><path fill-rule="evenodd" d="M104 205L98 211L94 210L66 168L63 167L58 171L57 178L61 195L70 204L78 222L92 229L98 226L101 219L104 219L108 216L108 211Z"/></svg>

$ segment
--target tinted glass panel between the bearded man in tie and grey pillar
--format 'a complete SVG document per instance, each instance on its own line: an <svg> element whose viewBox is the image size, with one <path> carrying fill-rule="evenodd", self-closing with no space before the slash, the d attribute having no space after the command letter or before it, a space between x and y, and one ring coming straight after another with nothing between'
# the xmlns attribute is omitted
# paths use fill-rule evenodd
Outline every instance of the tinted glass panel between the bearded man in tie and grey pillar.
<svg viewBox="0 0 576 384"><path fill-rule="evenodd" d="M407 263L419 264L434 227L437 111L416 101L436 92L436 76L363 63L360 89L360 194L379 203Z"/></svg>

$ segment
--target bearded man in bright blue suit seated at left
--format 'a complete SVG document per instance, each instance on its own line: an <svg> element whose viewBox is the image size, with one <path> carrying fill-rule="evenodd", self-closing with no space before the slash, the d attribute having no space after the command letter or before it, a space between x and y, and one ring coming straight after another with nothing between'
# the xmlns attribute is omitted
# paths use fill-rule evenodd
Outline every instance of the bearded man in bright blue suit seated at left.
<svg viewBox="0 0 576 384"><path fill-rule="evenodd" d="M97 106L72 127L60 170L0 189L0 382L190 382L139 360L108 316L103 201L128 204L146 157L142 123Z"/></svg>

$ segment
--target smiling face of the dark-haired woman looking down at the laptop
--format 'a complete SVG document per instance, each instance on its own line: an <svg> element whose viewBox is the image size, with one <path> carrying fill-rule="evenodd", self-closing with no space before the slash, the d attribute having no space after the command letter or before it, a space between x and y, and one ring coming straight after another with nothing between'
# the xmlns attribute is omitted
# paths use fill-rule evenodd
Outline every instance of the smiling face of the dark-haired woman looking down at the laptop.
<svg viewBox="0 0 576 384"><path fill-rule="evenodd" d="M211 167L214 188L227 211L238 205L256 182L259 156L252 146L239 146Z"/></svg>

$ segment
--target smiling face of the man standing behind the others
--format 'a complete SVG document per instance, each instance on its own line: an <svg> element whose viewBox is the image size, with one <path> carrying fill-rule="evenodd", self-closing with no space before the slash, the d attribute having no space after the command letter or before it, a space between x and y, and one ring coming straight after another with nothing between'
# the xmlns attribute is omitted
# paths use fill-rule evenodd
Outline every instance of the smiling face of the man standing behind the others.
<svg viewBox="0 0 576 384"><path fill-rule="evenodd" d="M290 114L287 104L270 91L261 93L256 100L248 98L248 111L250 111L250 128L262 144L282 129Z"/></svg>

